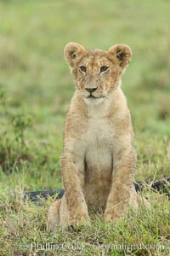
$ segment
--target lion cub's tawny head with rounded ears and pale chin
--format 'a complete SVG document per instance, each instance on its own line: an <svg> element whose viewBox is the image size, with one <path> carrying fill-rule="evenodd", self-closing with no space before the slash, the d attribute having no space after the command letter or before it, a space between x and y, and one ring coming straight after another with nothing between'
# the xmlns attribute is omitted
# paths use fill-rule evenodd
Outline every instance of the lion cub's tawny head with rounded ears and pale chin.
<svg viewBox="0 0 170 256"><path fill-rule="evenodd" d="M116 90L131 56L132 51L127 44L116 44L108 51L84 49L77 43L65 46L65 58L77 90L87 103L103 102Z"/></svg>

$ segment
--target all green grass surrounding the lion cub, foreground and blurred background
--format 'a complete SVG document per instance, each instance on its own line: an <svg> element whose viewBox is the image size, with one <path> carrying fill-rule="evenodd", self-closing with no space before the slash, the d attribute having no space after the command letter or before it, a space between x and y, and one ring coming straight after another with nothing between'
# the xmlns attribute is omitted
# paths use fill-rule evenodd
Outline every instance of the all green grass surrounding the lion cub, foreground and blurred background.
<svg viewBox="0 0 170 256"><path fill-rule="evenodd" d="M169 9L166 0L0 1L0 255L168 255L164 195L147 191L151 211L131 210L120 224L95 216L88 229L53 234L45 225L50 200L23 204L20 192L61 187L63 126L74 91L63 57L69 41L132 47L122 89L136 135L136 179L169 176Z"/></svg>

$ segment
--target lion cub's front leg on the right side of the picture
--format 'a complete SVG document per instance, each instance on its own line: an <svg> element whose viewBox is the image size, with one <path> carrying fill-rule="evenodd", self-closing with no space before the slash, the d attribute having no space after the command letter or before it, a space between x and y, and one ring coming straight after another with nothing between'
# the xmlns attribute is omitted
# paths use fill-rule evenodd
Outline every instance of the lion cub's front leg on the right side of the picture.
<svg viewBox="0 0 170 256"><path fill-rule="evenodd" d="M126 212L133 189L133 177L136 170L134 150L115 158L111 192L105 208L105 221L117 221Z"/></svg>

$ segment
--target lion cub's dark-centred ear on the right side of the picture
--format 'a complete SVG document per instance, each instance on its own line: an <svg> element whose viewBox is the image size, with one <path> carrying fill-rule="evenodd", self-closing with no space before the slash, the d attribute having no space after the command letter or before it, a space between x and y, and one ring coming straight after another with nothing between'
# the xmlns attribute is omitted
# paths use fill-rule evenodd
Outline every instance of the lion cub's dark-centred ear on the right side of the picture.
<svg viewBox="0 0 170 256"><path fill-rule="evenodd" d="M109 55L114 55L119 62L119 66L124 70L133 55L127 44L115 44L109 49Z"/></svg>

